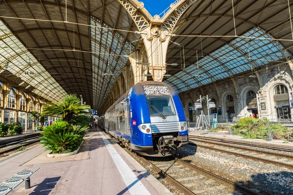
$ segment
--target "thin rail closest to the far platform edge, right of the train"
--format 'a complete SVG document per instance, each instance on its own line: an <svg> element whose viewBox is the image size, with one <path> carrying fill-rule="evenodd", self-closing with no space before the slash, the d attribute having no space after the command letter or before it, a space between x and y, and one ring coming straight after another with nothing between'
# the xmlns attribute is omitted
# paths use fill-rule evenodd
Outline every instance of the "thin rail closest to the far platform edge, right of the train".
<svg viewBox="0 0 293 195"><path fill-rule="evenodd" d="M267 148L267 149L271 149L271 150L279 150L279 151L285 151L285 152L293 152L293 149L292 148L269 146L269 145L261 145L261 144L254 144L254 143L246 143L246 142L241 142L240 140L232 141L232 140L224 140L222 138L201 137L201 136L195 136L195 135L189 135L189 138L199 138L199 139L205 139L205 140L220 141L220 142L223 142L223 143L233 143L233 144L238 144L238 145L246 145L246 146L259 147L259 148Z"/></svg>

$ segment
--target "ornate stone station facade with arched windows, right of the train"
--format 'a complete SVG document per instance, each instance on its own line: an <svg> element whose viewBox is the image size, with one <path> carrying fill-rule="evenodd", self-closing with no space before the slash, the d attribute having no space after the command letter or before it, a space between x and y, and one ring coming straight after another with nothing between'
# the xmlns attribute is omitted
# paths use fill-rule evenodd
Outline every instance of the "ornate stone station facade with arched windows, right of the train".
<svg viewBox="0 0 293 195"><path fill-rule="evenodd" d="M276 64L251 74L224 79L215 84L179 94L188 121L196 121L198 111L189 109L201 96L215 102L209 113L218 121L237 121L242 117L266 117L271 121L293 121L292 62ZM207 115L207 103L203 103Z"/></svg>

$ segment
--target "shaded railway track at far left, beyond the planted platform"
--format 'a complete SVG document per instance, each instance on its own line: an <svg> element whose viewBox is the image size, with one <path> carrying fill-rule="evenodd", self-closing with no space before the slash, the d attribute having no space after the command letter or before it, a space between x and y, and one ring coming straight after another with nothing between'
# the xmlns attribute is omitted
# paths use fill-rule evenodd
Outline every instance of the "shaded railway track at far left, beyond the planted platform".
<svg viewBox="0 0 293 195"><path fill-rule="evenodd" d="M0 156L8 156L8 155L6 155L7 153L18 150L23 146L27 146L27 145L39 142L40 137L42 137L42 136L38 135L35 137L30 137L30 138L22 139L19 141L14 141L11 143L2 144L2 145L0 145Z"/></svg>

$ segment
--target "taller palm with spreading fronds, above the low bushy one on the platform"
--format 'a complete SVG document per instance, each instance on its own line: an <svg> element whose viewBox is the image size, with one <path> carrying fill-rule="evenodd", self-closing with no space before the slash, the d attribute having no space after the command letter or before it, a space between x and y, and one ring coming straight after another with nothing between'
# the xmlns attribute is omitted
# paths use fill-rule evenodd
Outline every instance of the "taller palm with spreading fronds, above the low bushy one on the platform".
<svg viewBox="0 0 293 195"><path fill-rule="evenodd" d="M61 115L63 120L71 123L72 117L80 114L88 114L89 106L81 105L80 99L75 94L65 96L60 103L48 103L43 106L42 115Z"/></svg>

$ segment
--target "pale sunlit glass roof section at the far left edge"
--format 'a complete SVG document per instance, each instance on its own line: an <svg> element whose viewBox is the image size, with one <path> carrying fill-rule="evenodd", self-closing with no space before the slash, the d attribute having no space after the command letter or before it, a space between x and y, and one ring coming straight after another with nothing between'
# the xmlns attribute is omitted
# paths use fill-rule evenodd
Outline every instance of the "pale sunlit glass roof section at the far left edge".
<svg viewBox="0 0 293 195"><path fill-rule="evenodd" d="M8 66L5 67L8 62ZM21 78L33 93L50 101L61 101L67 94L22 43L0 21L0 73L9 71ZM22 83L24 83L22 82Z"/></svg>

